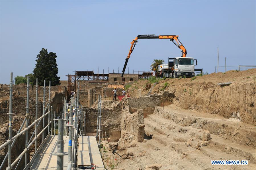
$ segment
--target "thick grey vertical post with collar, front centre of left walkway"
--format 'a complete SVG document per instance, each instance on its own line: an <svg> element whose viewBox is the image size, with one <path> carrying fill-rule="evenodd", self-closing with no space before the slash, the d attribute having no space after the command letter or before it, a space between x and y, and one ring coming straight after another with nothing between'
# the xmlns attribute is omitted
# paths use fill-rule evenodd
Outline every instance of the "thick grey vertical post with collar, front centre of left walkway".
<svg viewBox="0 0 256 170"><path fill-rule="evenodd" d="M58 153L64 154L64 141L63 141L63 133L64 133L64 120L58 120ZM55 132L54 132L55 134ZM57 170L63 170L63 155L57 156Z"/></svg>

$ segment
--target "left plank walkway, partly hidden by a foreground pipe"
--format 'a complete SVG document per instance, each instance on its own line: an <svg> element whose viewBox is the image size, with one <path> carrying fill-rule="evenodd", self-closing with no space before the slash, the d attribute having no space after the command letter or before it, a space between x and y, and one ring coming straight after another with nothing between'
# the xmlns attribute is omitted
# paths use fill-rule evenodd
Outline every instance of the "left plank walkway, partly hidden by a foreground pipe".
<svg viewBox="0 0 256 170"><path fill-rule="evenodd" d="M51 135L46 143L44 144L42 150L37 155L36 160L31 166L32 169L57 169L57 156L52 155L52 153L57 152L57 140L58 135ZM63 136L64 141L64 152L68 152L68 136ZM68 155L63 156L63 169L67 169Z"/></svg>

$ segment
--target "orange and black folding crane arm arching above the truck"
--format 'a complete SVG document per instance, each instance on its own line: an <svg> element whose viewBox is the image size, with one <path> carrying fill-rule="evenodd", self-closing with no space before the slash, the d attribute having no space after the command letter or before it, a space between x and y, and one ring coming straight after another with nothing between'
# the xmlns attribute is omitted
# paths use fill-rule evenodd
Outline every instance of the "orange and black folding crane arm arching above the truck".
<svg viewBox="0 0 256 170"><path fill-rule="evenodd" d="M138 39L170 39L171 42L173 42L178 48L180 48L182 51L182 57L186 57L187 50L182 45L182 43L178 39L179 35L138 35L134 40L131 42L131 47L128 53L128 56L125 59L124 68L122 70L122 77L124 76L124 71L126 69L126 65L128 63L128 59L130 58L132 51L134 50L135 45L138 43ZM174 42L174 40L177 42Z"/></svg>

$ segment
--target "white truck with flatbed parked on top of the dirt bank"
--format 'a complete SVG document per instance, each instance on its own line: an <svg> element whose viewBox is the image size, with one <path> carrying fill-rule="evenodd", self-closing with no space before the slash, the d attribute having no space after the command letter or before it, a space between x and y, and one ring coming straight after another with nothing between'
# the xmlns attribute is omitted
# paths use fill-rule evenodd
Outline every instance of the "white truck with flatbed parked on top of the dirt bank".
<svg viewBox="0 0 256 170"><path fill-rule="evenodd" d="M179 76L193 77L195 76L195 71L202 72L202 69L195 69L197 59L191 57L168 58L168 64L161 65L165 77L170 78L178 78ZM158 71L161 70L161 65L158 65Z"/></svg>

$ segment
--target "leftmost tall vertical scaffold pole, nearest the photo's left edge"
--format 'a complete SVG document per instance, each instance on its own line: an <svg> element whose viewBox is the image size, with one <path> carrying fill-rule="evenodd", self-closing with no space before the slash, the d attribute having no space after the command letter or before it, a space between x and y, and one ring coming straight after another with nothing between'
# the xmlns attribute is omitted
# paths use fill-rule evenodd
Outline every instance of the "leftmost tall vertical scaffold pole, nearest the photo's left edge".
<svg viewBox="0 0 256 170"><path fill-rule="evenodd" d="M10 78L10 99L9 99L9 140L10 143L8 144L8 167L11 168L11 151L12 151L12 119L13 119L13 73L11 73Z"/></svg>

